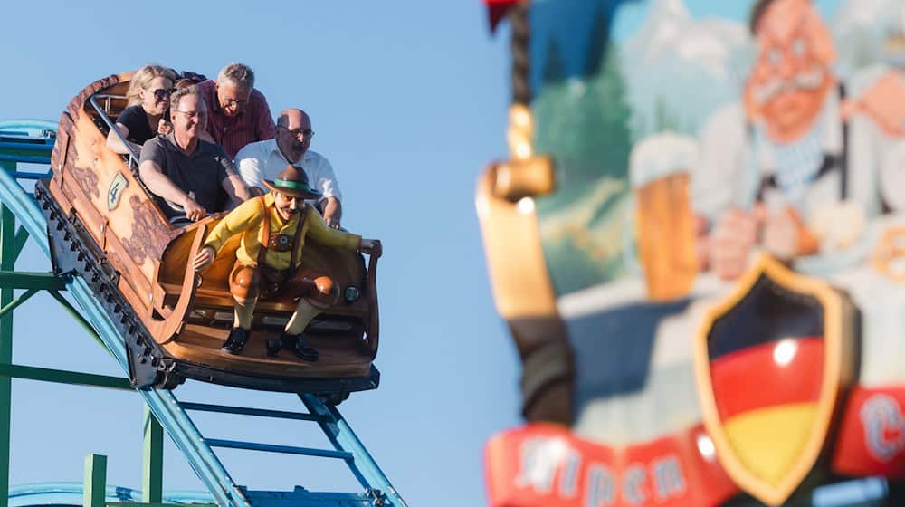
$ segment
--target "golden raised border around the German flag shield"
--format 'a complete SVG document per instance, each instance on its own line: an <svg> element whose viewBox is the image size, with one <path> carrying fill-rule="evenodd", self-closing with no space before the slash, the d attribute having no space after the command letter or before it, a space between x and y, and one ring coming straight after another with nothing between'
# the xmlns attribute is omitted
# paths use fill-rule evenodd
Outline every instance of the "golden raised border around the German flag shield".
<svg viewBox="0 0 905 507"><path fill-rule="evenodd" d="M814 428L798 460L776 485L767 483L749 471L729 444L729 437L719 418L710 379L710 356L707 337L713 322L734 308L751 291L761 274L792 291L814 296L824 308L824 376L816 403ZM735 292L725 301L710 308L693 342L694 369L704 426L717 448L719 462L742 489L768 505L779 505L795 491L816 464L824 448L826 435L834 420L837 400L842 388L852 380L853 343L851 320L843 309L845 301L826 282L795 273L782 263L762 253L757 263L739 280ZM844 358L843 358L844 356Z"/></svg>

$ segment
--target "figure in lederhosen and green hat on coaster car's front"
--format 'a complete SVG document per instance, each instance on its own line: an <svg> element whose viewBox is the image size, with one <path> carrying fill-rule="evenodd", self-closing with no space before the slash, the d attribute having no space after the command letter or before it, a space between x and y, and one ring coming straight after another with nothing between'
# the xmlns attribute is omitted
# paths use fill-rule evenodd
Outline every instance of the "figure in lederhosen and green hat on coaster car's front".
<svg viewBox="0 0 905 507"><path fill-rule="evenodd" d="M245 201L214 227L195 257L195 269L205 269L214 262L227 239L233 234L243 234L229 276L235 319L222 350L230 354L242 352L259 298L291 297L299 298L298 306L280 340L268 341L268 353L276 354L281 344L291 344L300 359L316 361L318 351L305 340L302 331L320 311L338 301L339 288L329 276L310 273L301 264L305 238L376 254L380 242L329 228L318 211L305 204L306 199L318 199L320 194L311 189L305 173L296 167L287 166L275 179L263 183L271 191Z"/></svg>

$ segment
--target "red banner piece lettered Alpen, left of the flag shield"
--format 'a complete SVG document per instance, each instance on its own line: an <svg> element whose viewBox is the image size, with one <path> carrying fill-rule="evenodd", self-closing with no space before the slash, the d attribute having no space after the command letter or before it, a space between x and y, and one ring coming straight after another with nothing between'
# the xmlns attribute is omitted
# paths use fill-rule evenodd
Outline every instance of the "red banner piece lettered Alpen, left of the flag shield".
<svg viewBox="0 0 905 507"><path fill-rule="evenodd" d="M491 507L708 507L738 492L700 425L614 449L532 424L485 453Z"/></svg>

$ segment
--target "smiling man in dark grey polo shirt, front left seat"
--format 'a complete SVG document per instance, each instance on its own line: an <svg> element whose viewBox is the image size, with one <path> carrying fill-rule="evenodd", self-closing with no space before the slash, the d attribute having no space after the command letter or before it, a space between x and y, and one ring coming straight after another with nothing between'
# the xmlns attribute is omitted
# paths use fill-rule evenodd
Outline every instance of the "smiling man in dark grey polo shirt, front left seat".
<svg viewBox="0 0 905 507"><path fill-rule="evenodd" d="M233 208L249 198L248 187L235 172L233 160L219 145L198 139L205 129L207 108L195 86L177 90L170 100L173 132L148 140L141 150L138 172L154 195L182 206L189 220L208 212ZM221 189L226 199L220 198ZM227 202L228 201L228 202ZM162 206L167 215L181 215Z"/></svg>

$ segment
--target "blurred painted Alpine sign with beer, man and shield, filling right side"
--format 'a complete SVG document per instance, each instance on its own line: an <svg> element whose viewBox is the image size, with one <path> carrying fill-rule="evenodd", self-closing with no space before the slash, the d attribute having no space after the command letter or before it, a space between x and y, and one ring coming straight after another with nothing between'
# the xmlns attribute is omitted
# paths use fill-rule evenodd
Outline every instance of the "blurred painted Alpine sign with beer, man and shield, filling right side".
<svg viewBox="0 0 905 507"><path fill-rule="evenodd" d="M528 421L491 505L905 502L900 5L485 3L511 158L476 207Z"/></svg>

